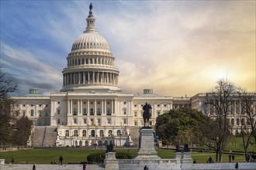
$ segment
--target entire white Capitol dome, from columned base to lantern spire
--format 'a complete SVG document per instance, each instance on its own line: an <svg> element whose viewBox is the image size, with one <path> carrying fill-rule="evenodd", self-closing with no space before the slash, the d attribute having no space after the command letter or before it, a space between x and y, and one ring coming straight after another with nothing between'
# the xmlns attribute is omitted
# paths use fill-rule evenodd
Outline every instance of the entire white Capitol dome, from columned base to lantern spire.
<svg viewBox="0 0 256 170"><path fill-rule="evenodd" d="M75 39L71 53L67 56L67 67L63 70L61 91L110 90L118 87L119 70L114 66L109 43L95 29L92 8L83 34Z"/></svg>

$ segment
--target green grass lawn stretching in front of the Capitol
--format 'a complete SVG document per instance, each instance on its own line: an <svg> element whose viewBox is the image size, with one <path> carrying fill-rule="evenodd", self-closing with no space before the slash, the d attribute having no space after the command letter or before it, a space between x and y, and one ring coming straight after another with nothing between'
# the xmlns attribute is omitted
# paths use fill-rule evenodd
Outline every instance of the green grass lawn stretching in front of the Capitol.
<svg viewBox="0 0 256 170"><path fill-rule="evenodd" d="M79 163L86 161L87 155L95 152L105 152L106 149L88 149L88 148L45 148L45 149L19 149L18 151L5 151L0 152L0 158L5 159L5 163L8 163L11 158L14 158L15 163L25 164L26 162L36 164L50 164L50 162L58 162L58 158L62 155L64 163ZM116 149L116 152L128 152L128 149ZM129 149L130 154L135 157L137 149ZM174 151L157 149L157 154L161 158L174 158ZM211 156L215 160L214 153L199 153L192 152L192 158L197 163L205 163ZM236 162L244 162L244 155L235 155ZM223 155L223 162L228 162L228 155Z"/></svg>

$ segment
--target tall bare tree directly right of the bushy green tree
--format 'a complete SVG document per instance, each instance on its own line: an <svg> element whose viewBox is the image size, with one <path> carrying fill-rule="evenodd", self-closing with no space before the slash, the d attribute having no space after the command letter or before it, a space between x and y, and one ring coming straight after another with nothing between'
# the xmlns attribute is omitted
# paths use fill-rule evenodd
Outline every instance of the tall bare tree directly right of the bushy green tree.
<svg viewBox="0 0 256 170"><path fill-rule="evenodd" d="M237 87L234 83L228 80L217 81L217 86L213 88L212 92L206 93L206 107L209 108L211 117L216 120L218 130L216 134L217 150L216 156L218 162L222 162L223 148L230 134L230 124L227 120L230 114L230 106L236 97Z"/></svg>

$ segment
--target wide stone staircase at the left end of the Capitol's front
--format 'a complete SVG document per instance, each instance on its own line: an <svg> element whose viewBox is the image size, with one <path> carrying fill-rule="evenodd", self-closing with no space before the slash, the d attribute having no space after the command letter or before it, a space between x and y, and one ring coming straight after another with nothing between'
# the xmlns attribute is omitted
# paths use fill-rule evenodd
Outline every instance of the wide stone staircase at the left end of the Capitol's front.
<svg viewBox="0 0 256 170"><path fill-rule="evenodd" d="M35 127L33 133L33 146L54 146L57 139L56 128Z"/></svg>

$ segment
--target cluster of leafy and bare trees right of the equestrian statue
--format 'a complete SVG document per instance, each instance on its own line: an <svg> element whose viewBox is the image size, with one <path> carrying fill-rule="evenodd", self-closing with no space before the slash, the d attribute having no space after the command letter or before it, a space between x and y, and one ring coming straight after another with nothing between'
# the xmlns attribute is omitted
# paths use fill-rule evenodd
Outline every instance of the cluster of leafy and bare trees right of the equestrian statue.
<svg viewBox="0 0 256 170"><path fill-rule="evenodd" d="M240 105L238 126L247 158L248 147L256 145L255 101L256 93L247 93L228 80L219 80L216 87L206 93L203 103L203 107L209 108L210 117L191 108L170 110L157 117L156 132L164 145L206 146L216 152L216 162L222 162L224 147L234 138L228 117L232 114L230 108L237 102Z"/></svg>

